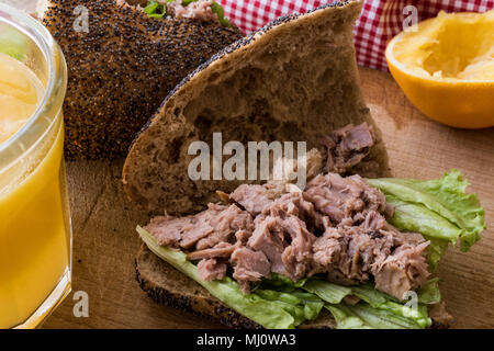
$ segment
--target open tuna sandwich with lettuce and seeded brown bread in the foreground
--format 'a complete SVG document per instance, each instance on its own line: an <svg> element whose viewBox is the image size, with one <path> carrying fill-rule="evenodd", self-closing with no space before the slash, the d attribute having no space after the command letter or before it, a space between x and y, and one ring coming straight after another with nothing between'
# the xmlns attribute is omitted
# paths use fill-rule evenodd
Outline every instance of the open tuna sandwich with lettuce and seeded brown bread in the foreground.
<svg viewBox="0 0 494 351"><path fill-rule="evenodd" d="M460 171L390 178L357 79L359 1L282 18L199 67L165 100L124 167L141 287L236 328L446 327L435 270L480 239ZM188 146L304 140L305 186L188 177ZM211 144L209 144L211 145Z"/></svg>

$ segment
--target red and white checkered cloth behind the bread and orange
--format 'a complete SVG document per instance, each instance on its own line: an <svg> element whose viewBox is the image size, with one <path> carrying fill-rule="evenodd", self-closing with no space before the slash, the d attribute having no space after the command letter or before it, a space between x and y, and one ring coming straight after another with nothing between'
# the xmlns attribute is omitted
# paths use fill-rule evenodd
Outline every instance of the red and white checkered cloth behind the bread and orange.
<svg viewBox="0 0 494 351"><path fill-rule="evenodd" d="M248 34L280 15L304 13L334 0L216 0L225 14L244 33ZM355 29L357 61L361 66L386 70L384 50L388 42L403 30L409 15L404 9L414 5L418 21L446 12L485 12L494 8L494 0L364 0L362 13Z"/></svg>

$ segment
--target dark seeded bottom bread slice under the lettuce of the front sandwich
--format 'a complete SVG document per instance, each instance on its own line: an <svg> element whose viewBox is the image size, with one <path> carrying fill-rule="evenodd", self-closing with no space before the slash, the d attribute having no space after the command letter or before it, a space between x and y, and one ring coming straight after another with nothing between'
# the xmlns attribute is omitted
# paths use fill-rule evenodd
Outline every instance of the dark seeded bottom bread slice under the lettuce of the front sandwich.
<svg viewBox="0 0 494 351"><path fill-rule="evenodd" d="M156 303L215 319L232 328L259 329L255 321L236 313L213 297L204 287L154 254L145 244L135 258L136 280ZM444 304L429 309L433 328L448 328L451 316ZM316 320L300 325L301 329L335 329L333 316L323 309Z"/></svg>

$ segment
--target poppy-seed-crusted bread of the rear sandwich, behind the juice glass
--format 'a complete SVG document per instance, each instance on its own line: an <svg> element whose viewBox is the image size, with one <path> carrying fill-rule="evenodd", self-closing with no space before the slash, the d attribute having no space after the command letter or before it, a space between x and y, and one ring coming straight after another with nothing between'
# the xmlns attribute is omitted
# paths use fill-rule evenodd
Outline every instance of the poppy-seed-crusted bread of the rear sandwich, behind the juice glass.
<svg viewBox="0 0 494 351"><path fill-rule="evenodd" d="M151 19L123 0L44 0L37 11L67 60L69 159L125 157L170 90L243 36L217 22Z"/></svg>

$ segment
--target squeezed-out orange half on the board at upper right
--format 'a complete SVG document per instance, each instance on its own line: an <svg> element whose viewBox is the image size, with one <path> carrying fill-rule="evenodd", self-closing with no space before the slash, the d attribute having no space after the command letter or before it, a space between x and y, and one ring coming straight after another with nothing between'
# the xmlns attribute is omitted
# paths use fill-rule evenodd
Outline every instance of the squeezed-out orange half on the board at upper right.
<svg viewBox="0 0 494 351"><path fill-rule="evenodd" d="M385 56L428 117L461 128L494 126L494 10L440 12L396 35Z"/></svg>

